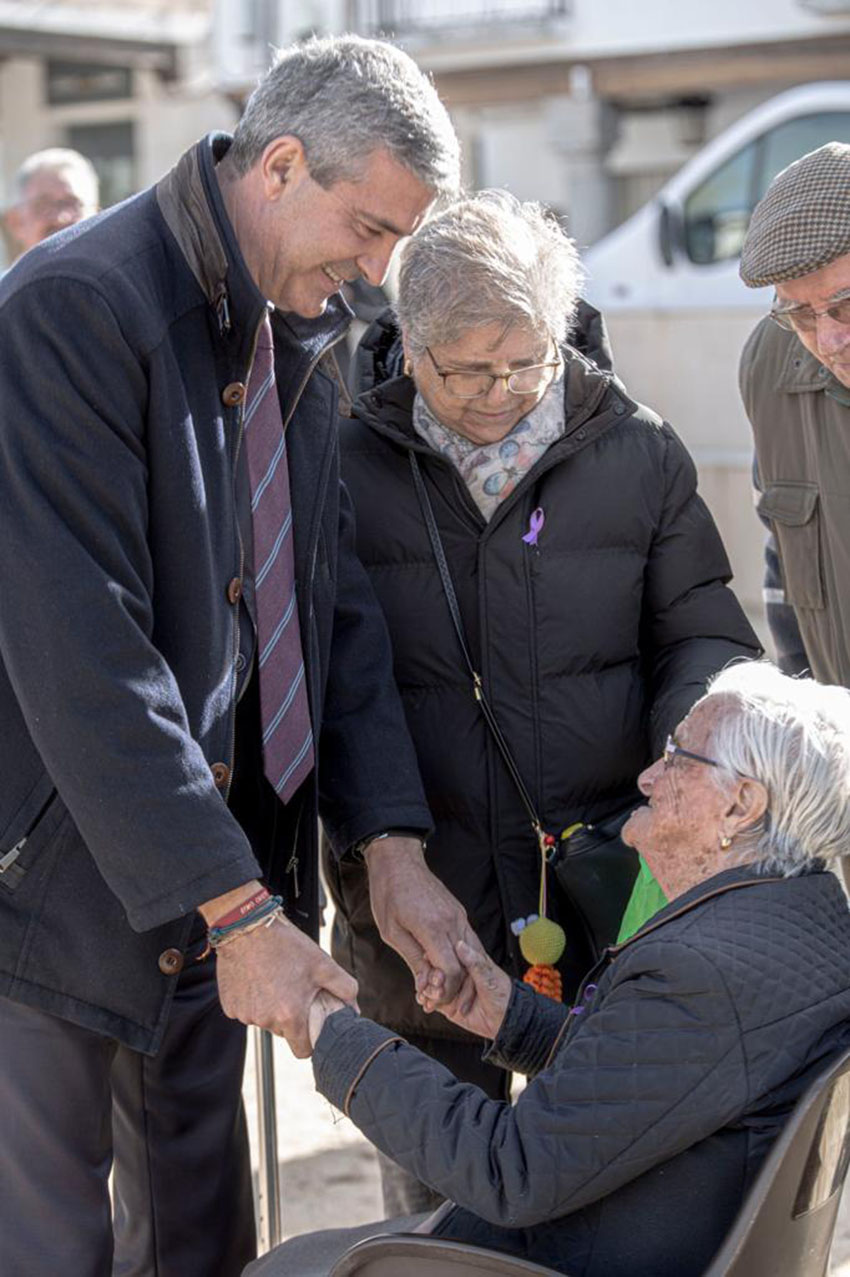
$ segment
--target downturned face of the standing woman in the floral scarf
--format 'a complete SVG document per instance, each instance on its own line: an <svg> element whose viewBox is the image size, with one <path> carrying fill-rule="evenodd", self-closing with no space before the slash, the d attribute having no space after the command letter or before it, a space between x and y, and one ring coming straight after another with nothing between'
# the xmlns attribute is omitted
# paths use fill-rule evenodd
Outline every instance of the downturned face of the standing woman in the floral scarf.
<svg viewBox="0 0 850 1277"><path fill-rule="evenodd" d="M491 323L485 328L471 328L451 345L435 342L429 350L433 359L425 351L410 360L416 389L443 425L480 444L504 439L540 402L556 372L551 369L546 373L544 384L530 395L514 395L504 381L496 381L479 398L457 398L447 389L440 373L518 372L555 360L553 341L527 328L505 331L504 324Z"/></svg>

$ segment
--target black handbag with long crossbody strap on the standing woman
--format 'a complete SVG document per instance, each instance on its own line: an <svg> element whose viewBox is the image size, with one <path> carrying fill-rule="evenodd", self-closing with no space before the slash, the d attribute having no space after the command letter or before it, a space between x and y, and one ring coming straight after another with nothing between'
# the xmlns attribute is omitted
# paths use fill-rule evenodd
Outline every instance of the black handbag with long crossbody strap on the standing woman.
<svg viewBox="0 0 850 1277"><path fill-rule="evenodd" d="M544 862L548 865L550 882L554 882L568 898L572 912L578 916L585 928L588 945L593 950L593 954L599 956L618 937L620 922L638 875L639 858L637 852L627 847L620 839L620 830L637 803L632 803L629 807L592 825L570 825L560 835L554 835L544 829L508 742L493 713L493 706L485 696L481 676L475 668L470 646L466 641L461 609L436 526L436 518L434 517L434 507L428 495L416 453L410 452L408 457L414 475L414 487L416 488L431 550L440 573L445 601L463 660L472 679L472 695L481 706L484 720L519 794L522 806L528 813L537 847Z"/></svg>

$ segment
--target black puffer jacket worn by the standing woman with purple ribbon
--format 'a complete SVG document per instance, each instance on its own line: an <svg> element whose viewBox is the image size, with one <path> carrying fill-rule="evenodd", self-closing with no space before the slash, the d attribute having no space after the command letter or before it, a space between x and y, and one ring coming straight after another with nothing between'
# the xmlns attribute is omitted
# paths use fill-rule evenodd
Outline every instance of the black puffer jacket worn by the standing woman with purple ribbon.
<svg viewBox="0 0 850 1277"><path fill-rule="evenodd" d="M540 859L471 695L411 450L477 669L548 829L632 802L637 774L707 677L757 650L724 584L729 563L684 447L610 373L574 349L564 355L565 433L489 524L457 471L415 434L408 378L364 393L341 438L357 552L389 624L436 826L429 865L463 902L493 958L513 971L525 964L509 925L537 909ZM522 536L536 507L545 526L533 548ZM406 968L371 925L362 868L327 868L338 907L334 954L360 981L364 1013L406 1033L458 1036L419 1011ZM564 921L564 974L574 988L590 954Z"/></svg>

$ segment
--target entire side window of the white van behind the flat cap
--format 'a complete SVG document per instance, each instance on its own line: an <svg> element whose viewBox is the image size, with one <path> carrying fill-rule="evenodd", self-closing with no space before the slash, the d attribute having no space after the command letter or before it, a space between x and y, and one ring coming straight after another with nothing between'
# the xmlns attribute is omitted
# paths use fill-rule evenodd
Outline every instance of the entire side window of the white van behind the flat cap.
<svg viewBox="0 0 850 1277"><path fill-rule="evenodd" d="M850 111L822 111L777 124L726 160L684 203L684 249L696 266L740 255L753 208L772 179L824 142L850 142Z"/></svg>

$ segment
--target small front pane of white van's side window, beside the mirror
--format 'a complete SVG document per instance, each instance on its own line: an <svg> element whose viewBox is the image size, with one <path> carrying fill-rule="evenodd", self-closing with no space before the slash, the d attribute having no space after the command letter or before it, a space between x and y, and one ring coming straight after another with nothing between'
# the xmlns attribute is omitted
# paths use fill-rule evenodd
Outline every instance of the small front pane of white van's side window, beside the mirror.
<svg viewBox="0 0 850 1277"><path fill-rule="evenodd" d="M758 139L715 169L684 207L685 252L697 266L738 257L753 211Z"/></svg>

